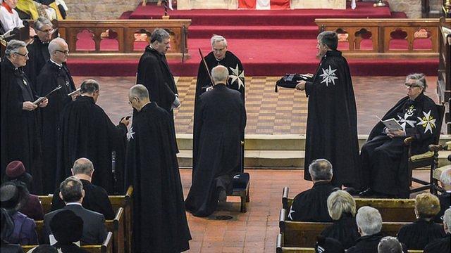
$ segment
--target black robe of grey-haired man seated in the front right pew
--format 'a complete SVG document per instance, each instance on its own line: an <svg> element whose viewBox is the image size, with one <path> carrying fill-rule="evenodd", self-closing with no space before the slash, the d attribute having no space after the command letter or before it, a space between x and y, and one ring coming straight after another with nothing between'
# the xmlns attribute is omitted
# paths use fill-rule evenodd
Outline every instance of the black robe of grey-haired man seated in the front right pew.
<svg viewBox="0 0 451 253"><path fill-rule="evenodd" d="M332 222L327 209L327 198L336 188L325 181L296 195L288 213L292 221Z"/></svg>

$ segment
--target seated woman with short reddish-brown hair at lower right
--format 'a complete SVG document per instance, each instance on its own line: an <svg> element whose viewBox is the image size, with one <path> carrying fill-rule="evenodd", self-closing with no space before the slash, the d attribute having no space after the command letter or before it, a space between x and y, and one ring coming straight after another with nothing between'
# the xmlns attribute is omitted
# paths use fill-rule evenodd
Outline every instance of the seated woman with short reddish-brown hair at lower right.
<svg viewBox="0 0 451 253"><path fill-rule="evenodd" d="M415 198L415 214L417 220L407 224L397 233L397 238L408 249L424 249L429 242L445 237L443 227L433 222L440 211L438 197L431 193L421 193Z"/></svg>

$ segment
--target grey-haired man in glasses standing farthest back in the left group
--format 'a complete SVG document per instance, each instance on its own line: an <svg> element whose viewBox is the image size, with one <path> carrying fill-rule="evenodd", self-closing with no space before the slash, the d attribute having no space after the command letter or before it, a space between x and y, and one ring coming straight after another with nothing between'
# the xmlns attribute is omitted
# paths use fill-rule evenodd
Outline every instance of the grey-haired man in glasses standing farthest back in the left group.
<svg viewBox="0 0 451 253"><path fill-rule="evenodd" d="M35 21L34 28L36 35L33 37L32 43L27 46L28 58L30 59L24 67L24 72L30 78L32 86L36 87L37 76L50 58L49 42L51 41L54 29L50 20L44 17L39 17Z"/></svg>

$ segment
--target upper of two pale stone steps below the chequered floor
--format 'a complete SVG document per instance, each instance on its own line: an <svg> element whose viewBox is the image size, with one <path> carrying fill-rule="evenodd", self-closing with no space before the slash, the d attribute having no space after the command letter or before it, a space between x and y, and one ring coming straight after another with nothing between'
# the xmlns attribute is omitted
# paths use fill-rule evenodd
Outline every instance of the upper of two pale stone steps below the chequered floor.
<svg viewBox="0 0 451 253"><path fill-rule="evenodd" d="M245 138L245 150L305 150L304 134L247 134ZM360 147L367 138L367 134L359 135ZM451 135L442 134L440 143L447 141L451 141ZM177 144L180 150L192 150L192 134L177 134Z"/></svg>

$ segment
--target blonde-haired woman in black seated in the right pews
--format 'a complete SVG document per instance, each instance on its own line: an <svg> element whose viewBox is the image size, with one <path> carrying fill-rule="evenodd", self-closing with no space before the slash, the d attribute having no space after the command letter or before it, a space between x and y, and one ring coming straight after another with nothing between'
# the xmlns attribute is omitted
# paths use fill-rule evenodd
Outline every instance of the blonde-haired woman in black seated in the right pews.
<svg viewBox="0 0 451 253"><path fill-rule="evenodd" d="M354 246L360 237L354 217L354 198L345 190L337 190L327 198L327 209L333 225L324 229L321 235L338 240L345 249Z"/></svg>

